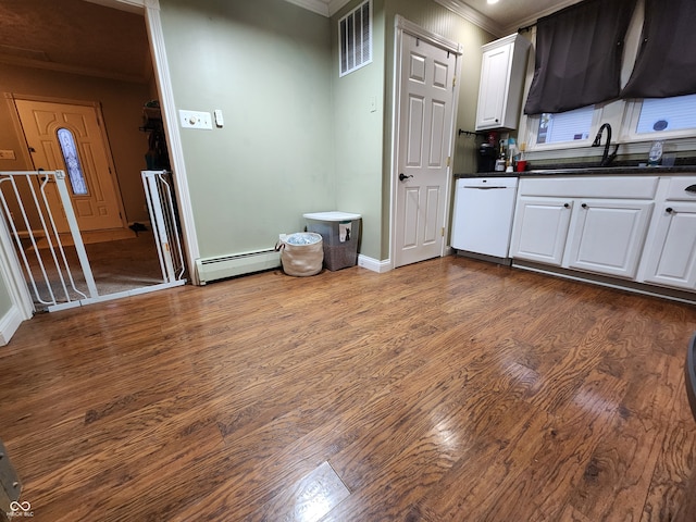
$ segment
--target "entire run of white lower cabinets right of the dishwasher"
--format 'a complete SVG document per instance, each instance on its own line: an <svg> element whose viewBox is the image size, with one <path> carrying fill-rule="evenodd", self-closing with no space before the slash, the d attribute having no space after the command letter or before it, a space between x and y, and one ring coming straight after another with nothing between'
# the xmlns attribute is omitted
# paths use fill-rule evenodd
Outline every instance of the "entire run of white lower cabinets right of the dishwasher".
<svg viewBox="0 0 696 522"><path fill-rule="evenodd" d="M696 293L696 175L522 178L510 257L642 291Z"/></svg>

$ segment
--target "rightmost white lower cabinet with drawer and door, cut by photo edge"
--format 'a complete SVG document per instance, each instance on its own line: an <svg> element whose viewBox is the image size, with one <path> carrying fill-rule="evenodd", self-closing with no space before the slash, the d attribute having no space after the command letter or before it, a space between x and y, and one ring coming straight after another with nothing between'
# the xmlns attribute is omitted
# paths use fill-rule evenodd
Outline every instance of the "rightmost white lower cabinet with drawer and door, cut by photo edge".
<svg viewBox="0 0 696 522"><path fill-rule="evenodd" d="M645 247L645 283L696 289L696 177L673 177ZM691 188L691 190L687 190Z"/></svg>

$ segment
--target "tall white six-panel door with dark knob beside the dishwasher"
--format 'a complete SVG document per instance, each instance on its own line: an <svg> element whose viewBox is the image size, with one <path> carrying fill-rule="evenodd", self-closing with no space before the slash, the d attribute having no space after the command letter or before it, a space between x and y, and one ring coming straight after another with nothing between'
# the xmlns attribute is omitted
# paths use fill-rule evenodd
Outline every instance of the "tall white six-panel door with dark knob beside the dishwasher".
<svg viewBox="0 0 696 522"><path fill-rule="evenodd" d="M443 254L456 65L453 52L403 33L395 266Z"/></svg>

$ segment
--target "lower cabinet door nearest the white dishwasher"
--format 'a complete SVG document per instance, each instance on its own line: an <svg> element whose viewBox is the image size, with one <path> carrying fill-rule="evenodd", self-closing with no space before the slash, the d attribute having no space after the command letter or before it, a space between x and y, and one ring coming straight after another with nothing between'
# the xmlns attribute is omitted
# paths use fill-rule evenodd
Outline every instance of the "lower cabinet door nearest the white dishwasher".
<svg viewBox="0 0 696 522"><path fill-rule="evenodd" d="M520 197L510 257L560 266L572 207L571 199Z"/></svg>

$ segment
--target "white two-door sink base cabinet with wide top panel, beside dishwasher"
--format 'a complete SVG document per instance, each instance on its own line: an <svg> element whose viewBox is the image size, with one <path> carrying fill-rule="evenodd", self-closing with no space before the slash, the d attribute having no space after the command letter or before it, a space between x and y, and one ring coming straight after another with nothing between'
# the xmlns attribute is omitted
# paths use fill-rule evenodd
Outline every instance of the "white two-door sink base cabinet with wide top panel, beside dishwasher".
<svg viewBox="0 0 696 522"><path fill-rule="evenodd" d="M657 183L651 176L524 178L510 256L635 278Z"/></svg>

